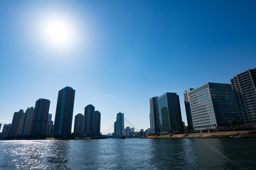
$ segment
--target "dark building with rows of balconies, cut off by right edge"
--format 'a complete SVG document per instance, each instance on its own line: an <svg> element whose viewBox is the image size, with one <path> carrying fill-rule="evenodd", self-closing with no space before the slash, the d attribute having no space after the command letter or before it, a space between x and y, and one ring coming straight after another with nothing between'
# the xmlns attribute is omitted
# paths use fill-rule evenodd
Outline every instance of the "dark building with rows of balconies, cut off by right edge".
<svg viewBox="0 0 256 170"><path fill-rule="evenodd" d="M256 123L256 67L230 79L240 118L245 123Z"/></svg>

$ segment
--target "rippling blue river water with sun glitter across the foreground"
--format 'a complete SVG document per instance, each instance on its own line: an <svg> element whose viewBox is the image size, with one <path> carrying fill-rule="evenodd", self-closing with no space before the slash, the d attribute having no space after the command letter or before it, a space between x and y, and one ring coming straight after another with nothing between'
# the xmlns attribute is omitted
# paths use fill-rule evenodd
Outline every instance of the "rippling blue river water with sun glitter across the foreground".
<svg viewBox="0 0 256 170"><path fill-rule="evenodd" d="M256 139L0 141L0 169L256 169Z"/></svg>

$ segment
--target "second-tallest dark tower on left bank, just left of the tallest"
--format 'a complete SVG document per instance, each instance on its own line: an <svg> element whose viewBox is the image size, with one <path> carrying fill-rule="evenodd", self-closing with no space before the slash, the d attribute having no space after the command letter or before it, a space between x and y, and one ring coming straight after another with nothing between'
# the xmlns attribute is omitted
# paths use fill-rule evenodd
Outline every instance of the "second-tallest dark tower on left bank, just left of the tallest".
<svg viewBox="0 0 256 170"><path fill-rule="evenodd" d="M33 114L31 135L36 137L46 136L46 125L48 121L48 113L50 101L45 98L39 98L36 101L35 111Z"/></svg>

